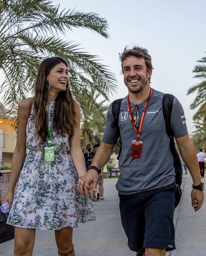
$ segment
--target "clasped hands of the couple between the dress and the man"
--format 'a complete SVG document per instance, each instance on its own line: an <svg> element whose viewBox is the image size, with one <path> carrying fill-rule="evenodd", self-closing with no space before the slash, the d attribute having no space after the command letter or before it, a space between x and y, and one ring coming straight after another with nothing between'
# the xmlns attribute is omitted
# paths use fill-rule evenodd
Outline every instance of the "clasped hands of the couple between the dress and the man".
<svg viewBox="0 0 206 256"><path fill-rule="evenodd" d="M93 188L97 192L98 174L94 169L90 169L84 176L78 180L77 188L82 196L89 196L89 190Z"/></svg>

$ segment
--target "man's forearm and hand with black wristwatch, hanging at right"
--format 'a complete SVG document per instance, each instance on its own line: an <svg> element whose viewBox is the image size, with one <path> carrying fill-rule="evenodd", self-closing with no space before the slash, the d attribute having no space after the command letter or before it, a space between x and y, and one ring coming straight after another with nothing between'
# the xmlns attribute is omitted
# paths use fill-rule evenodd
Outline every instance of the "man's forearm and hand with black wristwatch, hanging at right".
<svg viewBox="0 0 206 256"><path fill-rule="evenodd" d="M175 138L175 140L177 142L177 146L179 148L182 159L192 176L193 185L198 186L201 183L199 164L198 164L198 159L195 153L194 146L189 138L189 135L183 136L181 138ZM192 207L194 207L195 211L198 211L203 203L203 199L204 199L203 191L198 189L192 189L191 198L192 198Z"/></svg>

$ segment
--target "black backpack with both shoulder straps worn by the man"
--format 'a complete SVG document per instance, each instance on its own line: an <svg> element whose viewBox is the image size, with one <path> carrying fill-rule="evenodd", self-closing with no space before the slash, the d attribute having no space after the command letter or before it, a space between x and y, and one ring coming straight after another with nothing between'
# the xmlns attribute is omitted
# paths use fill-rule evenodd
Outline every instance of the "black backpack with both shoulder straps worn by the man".
<svg viewBox="0 0 206 256"><path fill-rule="evenodd" d="M181 196L182 196L182 190L180 188L182 184L182 166L181 166L181 161L180 157L176 151L175 144L174 144L174 134L171 128L171 113L173 109L173 100L174 96L172 94L164 94L163 99L162 99L162 111L164 115L164 120L165 120L165 125L166 125L166 131L167 135L170 138L170 151L173 156L173 166L175 169L175 182L176 182L176 191L175 191L175 203L174 207L176 208L177 205L180 202ZM119 128L119 114L120 114L120 105L122 102L121 99L116 99L112 102L111 108L112 108L112 114L114 117L114 122L111 124L111 127L114 128L116 127L117 133L119 135L119 142L120 142L120 151L118 154L117 159L119 160L120 153L122 151L122 140L121 140L121 134L120 134L120 128Z"/></svg>

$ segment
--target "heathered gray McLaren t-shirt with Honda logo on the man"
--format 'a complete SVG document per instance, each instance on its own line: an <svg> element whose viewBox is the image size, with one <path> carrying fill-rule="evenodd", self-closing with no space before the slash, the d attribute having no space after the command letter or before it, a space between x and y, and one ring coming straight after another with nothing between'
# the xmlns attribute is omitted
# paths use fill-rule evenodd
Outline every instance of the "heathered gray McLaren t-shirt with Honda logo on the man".
<svg viewBox="0 0 206 256"><path fill-rule="evenodd" d="M119 127L122 139L122 152L119 159L121 174L116 188L119 194L132 194L153 188L161 188L174 182L175 172L173 157L170 151L170 139L167 136L162 113L163 93L153 89L145 113L140 134L143 142L141 158L131 157L131 144L136 139L136 131L132 127L127 111L127 96L122 99L119 115ZM139 122L146 100L138 104ZM130 102L132 109L135 104ZM104 143L115 144L118 140L111 104L107 113L107 122L103 137ZM184 110L177 98L174 98L171 114L171 127L175 138L188 134Z"/></svg>

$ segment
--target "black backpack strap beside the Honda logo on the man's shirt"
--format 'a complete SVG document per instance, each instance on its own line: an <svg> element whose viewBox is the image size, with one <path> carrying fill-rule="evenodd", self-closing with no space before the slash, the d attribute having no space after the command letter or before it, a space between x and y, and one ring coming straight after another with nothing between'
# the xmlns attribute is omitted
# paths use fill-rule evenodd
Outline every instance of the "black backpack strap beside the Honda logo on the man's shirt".
<svg viewBox="0 0 206 256"><path fill-rule="evenodd" d="M111 127L114 128L116 127L117 133L119 135L119 143L120 143L120 151L117 157L117 160L120 158L120 153L122 151L122 139L121 139L121 134L120 134L120 128L119 128L119 115L120 115L120 106L121 106L122 98L121 99L116 99L111 103L111 110L112 110L112 115L114 117L114 122L111 124Z"/></svg>

